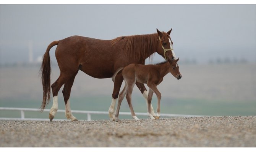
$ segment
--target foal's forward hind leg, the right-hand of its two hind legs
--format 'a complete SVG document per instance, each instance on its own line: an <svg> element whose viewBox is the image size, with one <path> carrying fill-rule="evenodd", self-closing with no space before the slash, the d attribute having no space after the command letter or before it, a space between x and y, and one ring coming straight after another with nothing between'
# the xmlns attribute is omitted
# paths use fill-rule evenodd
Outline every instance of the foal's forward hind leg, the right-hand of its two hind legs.
<svg viewBox="0 0 256 152"><path fill-rule="evenodd" d="M133 92L133 87L134 87L135 82L136 82L135 79L131 80L129 82L126 82L126 84L127 84L126 100L127 100L128 105L130 107L130 110L131 110L131 116L133 117L133 119L139 120L139 118L134 113L133 105L131 105L131 93Z"/></svg>

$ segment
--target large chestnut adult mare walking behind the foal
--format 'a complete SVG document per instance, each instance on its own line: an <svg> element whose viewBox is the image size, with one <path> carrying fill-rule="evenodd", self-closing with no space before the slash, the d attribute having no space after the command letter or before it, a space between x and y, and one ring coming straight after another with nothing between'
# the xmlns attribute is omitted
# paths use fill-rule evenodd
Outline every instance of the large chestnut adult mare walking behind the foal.
<svg viewBox="0 0 256 152"><path fill-rule="evenodd" d="M170 38L171 31L172 29L165 33L157 30L157 33L154 34L121 36L113 40L71 36L63 40L53 41L46 49L40 69L43 86L42 111L49 104L50 88L52 88L53 105L49 113L49 119L52 121L58 110L58 91L64 84L62 93L65 101L66 117L71 121L77 120L71 113L69 98L78 70L94 78L111 78L118 68L125 67L130 63L144 64L145 59L151 57L155 52L162 55L165 60L172 62L175 56L173 56L173 43ZM51 86L49 51L55 45L58 45L55 50L55 57L60 68L60 76ZM112 93L112 103L109 108L111 120L115 120L115 103L122 82L122 74L117 74ZM147 101L148 93L144 84L136 82L136 86ZM154 110L151 109L151 111L154 114Z"/></svg>

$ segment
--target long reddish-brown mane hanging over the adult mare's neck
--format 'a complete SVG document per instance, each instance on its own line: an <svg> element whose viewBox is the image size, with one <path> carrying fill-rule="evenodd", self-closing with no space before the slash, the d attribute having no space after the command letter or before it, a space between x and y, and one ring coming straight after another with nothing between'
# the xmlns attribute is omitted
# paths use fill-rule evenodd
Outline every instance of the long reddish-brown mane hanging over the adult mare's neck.
<svg viewBox="0 0 256 152"><path fill-rule="evenodd" d="M127 57L145 60L157 51L158 34L120 36L111 40L111 46L123 40L122 51Z"/></svg>

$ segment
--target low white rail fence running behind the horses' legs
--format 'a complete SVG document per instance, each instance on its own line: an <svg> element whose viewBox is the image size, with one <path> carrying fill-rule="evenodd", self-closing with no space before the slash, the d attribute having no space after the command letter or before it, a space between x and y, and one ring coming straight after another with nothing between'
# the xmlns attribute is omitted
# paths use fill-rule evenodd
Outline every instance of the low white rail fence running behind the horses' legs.
<svg viewBox="0 0 256 152"><path fill-rule="evenodd" d="M49 120L49 119L40 119L40 118L25 118L25 111L37 111L40 112L40 109L35 108L7 108L0 107L0 110L10 110L10 111L20 111L20 118L6 118L0 117L0 120ZM50 111L50 109L44 109L44 111ZM65 112L65 110L59 109L58 112ZM82 110L72 110L72 113L87 114L87 120L91 120L91 114L109 114L107 111L82 111ZM119 115L130 115L131 112L119 112ZM147 116L147 113L136 112L137 116ZM200 115L186 115L186 114L160 114L161 117L203 117ZM66 120L66 119L54 119L54 120Z"/></svg>

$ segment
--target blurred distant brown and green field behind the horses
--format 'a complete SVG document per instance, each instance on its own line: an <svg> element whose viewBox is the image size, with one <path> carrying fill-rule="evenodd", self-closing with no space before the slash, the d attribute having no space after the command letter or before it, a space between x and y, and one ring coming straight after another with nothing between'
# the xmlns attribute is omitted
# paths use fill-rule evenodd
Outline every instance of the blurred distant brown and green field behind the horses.
<svg viewBox="0 0 256 152"><path fill-rule="evenodd" d="M0 106L39 108L42 86L39 67L11 67L0 69ZM195 114L208 116L256 115L256 65L180 65L182 78L165 76L158 86L162 93L161 113ZM52 83L57 79L58 68L52 68ZM62 90L62 89L61 89ZM111 79L95 79L79 71L71 90L71 109L107 111L112 99ZM65 109L62 92L58 94L59 109ZM146 112L146 102L134 88L132 102L135 112ZM156 109L156 96L152 105ZM52 101L47 107L52 106ZM120 111L130 112L126 100ZM0 111L0 117L19 117L19 112ZM47 112L27 112L26 117L48 118ZM86 115L75 115L87 119ZM65 119L57 113L56 118ZM120 116L131 119L131 116ZM141 117L147 118L147 117ZM108 119L108 116L92 115L92 119Z"/></svg>

